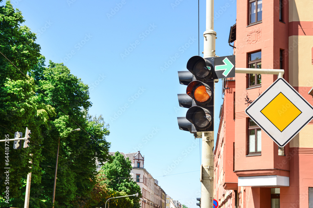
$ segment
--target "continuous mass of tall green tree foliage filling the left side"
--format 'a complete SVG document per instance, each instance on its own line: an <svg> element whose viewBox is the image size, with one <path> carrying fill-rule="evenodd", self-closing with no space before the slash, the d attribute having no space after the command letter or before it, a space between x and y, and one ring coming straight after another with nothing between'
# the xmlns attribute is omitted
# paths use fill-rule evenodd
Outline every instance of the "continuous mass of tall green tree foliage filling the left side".
<svg viewBox="0 0 313 208"><path fill-rule="evenodd" d="M32 132L28 148L13 149L9 143L10 201L0 198L0 206L24 205L26 178L32 172L30 207L51 207L59 144L54 207L75 207L81 199L92 207L90 194L99 183L95 161L109 160L108 125L101 116L86 113L91 107L87 85L63 63L45 65L36 35L23 22L9 1L0 7L0 52L19 69L0 54L0 135L13 138L26 127ZM4 150L0 143L1 158ZM3 159L0 166L5 167ZM1 196L4 180L1 172Z"/></svg>

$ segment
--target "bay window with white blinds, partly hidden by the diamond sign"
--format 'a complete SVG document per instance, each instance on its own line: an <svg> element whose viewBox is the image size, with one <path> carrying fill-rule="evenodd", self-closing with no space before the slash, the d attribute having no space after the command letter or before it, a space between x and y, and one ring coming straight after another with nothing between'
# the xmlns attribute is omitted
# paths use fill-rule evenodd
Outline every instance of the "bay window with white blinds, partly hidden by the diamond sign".
<svg viewBox="0 0 313 208"><path fill-rule="evenodd" d="M249 152L248 154L261 153L261 129L252 119L249 119Z"/></svg>

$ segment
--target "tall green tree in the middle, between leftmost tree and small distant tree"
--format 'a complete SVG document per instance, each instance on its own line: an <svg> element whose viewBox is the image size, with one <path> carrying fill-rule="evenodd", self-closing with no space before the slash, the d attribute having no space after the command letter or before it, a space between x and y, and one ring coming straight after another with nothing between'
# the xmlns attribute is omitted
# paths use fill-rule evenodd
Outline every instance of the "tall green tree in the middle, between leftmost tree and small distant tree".
<svg viewBox="0 0 313 208"><path fill-rule="evenodd" d="M49 129L43 141L45 160L41 167L44 175L38 189L45 190L40 196L42 200L51 202L54 178L54 167L58 141L60 139L58 180L55 191L56 207L73 207L72 201L77 198L86 199L95 185L96 159L100 162L109 160L110 143L105 140L109 135L104 119L86 114L91 103L88 86L63 64L49 61L48 67L36 68L39 87L44 94L38 92L41 103L55 108L56 116L50 118ZM33 74L36 74L36 70ZM86 110L85 110L86 109ZM80 132L72 132L74 128Z"/></svg>

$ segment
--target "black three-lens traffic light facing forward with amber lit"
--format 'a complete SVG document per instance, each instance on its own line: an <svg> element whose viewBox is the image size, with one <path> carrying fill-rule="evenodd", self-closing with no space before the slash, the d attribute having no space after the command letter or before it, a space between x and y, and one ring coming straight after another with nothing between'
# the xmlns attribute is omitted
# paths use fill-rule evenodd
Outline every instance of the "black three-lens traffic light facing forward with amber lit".
<svg viewBox="0 0 313 208"><path fill-rule="evenodd" d="M186 119L193 124L192 132L214 130L214 58L193 56L187 62L187 69L194 79L187 86L186 93L192 99L192 107Z"/></svg>

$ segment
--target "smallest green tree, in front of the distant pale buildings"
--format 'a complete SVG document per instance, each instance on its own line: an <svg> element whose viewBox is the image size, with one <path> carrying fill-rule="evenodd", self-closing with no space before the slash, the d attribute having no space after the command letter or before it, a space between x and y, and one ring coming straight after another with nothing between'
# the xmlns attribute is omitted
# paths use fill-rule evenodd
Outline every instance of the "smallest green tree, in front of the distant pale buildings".
<svg viewBox="0 0 313 208"><path fill-rule="evenodd" d="M131 178L132 170L131 161L125 159L120 152L115 152L110 162L106 162L100 170L102 176L102 184L106 184L108 188L114 191L124 192L126 195L139 193L139 197L130 197L133 201L133 207L140 207L139 201L141 197L140 186Z"/></svg>

